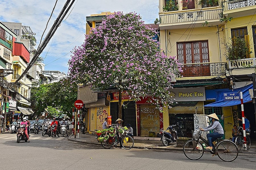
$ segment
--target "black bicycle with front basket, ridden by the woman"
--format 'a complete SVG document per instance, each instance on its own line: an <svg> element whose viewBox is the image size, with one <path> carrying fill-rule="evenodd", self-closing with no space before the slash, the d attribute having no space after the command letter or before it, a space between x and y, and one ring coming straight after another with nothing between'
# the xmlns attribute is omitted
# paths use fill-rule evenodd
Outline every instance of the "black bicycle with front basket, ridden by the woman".
<svg viewBox="0 0 256 170"><path fill-rule="evenodd" d="M183 146L183 153L188 159L198 160L202 158L204 154L204 147L199 140L202 140L209 146L208 141L202 137L202 131L195 130L193 132L193 138L187 141ZM215 151L210 150L210 153L218 155L218 157L225 162L235 160L238 157L238 147L236 144L230 140L223 140L220 142L219 140L220 139L218 138L216 141Z"/></svg>

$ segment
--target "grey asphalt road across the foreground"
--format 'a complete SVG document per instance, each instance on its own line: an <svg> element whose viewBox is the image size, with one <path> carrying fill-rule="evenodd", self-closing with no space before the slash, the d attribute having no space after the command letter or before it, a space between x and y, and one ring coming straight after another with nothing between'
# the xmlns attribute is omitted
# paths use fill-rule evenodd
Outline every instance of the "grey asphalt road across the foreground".
<svg viewBox="0 0 256 170"><path fill-rule="evenodd" d="M223 162L205 153L197 161L182 152L148 149L103 149L69 141L67 137L42 137L31 134L30 143L16 143L16 134L0 134L0 170L225 170L256 169L256 154L239 154L234 162Z"/></svg>

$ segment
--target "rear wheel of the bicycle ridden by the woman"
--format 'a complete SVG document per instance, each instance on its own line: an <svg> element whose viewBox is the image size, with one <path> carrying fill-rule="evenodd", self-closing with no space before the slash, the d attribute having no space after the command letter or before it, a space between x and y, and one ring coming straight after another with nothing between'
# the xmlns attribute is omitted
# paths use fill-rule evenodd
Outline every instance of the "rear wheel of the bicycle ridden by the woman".
<svg viewBox="0 0 256 170"><path fill-rule="evenodd" d="M231 162L238 157L238 147L228 140L221 141L216 147L216 152L218 157L225 162Z"/></svg>

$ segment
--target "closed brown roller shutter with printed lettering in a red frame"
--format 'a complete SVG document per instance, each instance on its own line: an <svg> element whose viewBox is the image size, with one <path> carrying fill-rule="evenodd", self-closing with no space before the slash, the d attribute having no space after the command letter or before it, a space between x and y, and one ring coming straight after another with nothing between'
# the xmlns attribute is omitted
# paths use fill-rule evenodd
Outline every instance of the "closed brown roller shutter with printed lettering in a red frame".
<svg viewBox="0 0 256 170"><path fill-rule="evenodd" d="M156 109L156 106L154 105L140 104L139 112L140 112L140 136L149 137L150 132L155 132L155 135L157 135L157 133L159 133L160 131L159 109ZM153 137L153 136L150 136L150 137Z"/></svg>

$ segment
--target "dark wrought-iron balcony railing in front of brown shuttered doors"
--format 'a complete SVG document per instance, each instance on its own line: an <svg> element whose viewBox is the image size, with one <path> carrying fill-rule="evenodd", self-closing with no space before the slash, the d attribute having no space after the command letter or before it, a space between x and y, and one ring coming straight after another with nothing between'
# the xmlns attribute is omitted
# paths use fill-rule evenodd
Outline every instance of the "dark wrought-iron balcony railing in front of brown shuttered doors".
<svg viewBox="0 0 256 170"><path fill-rule="evenodd" d="M221 76L226 74L226 63L183 64L183 77Z"/></svg>

